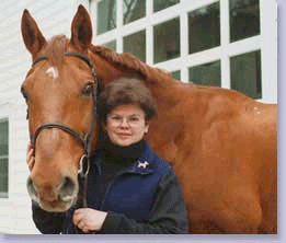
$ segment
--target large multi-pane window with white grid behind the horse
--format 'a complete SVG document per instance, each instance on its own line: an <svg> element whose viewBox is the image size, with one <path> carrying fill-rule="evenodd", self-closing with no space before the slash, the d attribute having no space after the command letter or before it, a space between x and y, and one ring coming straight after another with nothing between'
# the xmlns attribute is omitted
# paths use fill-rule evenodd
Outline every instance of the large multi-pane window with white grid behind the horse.
<svg viewBox="0 0 286 243"><path fill-rule="evenodd" d="M94 14L105 8L96 25L110 22L101 26L96 45L131 53L182 82L236 89L277 103L276 0L90 2Z"/></svg>

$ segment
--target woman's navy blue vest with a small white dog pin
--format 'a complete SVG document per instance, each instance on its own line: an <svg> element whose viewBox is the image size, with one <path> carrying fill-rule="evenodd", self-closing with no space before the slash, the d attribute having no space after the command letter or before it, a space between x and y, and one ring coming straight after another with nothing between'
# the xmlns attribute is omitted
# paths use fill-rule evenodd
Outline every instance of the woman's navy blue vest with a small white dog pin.
<svg viewBox="0 0 286 243"><path fill-rule="evenodd" d="M145 142L140 158L129 167L119 172L107 185L104 196L101 189L103 163L102 151L99 151L92 160L89 174L88 205L103 211L114 211L126 215L138 222L148 220L155 195L162 176L171 169L171 165L160 159ZM62 233L77 233L71 222L75 208L67 213Z"/></svg>

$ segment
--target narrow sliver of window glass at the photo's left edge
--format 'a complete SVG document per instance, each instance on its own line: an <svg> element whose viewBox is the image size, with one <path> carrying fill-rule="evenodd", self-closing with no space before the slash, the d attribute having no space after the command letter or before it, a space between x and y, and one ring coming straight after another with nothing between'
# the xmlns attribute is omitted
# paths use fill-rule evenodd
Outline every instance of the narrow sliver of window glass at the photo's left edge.
<svg viewBox="0 0 286 243"><path fill-rule="evenodd" d="M0 119L0 198L8 198L9 124Z"/></svg>

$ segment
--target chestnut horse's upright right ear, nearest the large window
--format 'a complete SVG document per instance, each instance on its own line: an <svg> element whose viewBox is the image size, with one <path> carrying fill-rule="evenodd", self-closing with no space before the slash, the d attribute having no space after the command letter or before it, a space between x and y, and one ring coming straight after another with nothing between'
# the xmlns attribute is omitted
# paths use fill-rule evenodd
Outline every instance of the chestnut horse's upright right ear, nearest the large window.
<svg viewBox="0 0 286 243"><path fill-rule="evenodd" d="M71 24L71 43L88 49L92 39L92 25L88 11L83 5L79 5Z"/></svg>

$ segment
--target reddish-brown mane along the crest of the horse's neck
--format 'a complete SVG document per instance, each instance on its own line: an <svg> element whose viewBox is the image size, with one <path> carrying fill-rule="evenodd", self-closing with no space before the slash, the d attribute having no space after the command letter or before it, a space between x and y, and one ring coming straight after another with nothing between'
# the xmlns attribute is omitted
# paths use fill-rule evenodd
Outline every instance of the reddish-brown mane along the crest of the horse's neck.
<svg viewBox="0 0 286 243"><path fill-rule="evenodd" d="M146 65L129 53L118 54L104 46L94 45L91 45L90 50L119 68L139 73L146 80L172 80L176 82L168 71Z"/></svg>

